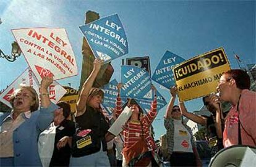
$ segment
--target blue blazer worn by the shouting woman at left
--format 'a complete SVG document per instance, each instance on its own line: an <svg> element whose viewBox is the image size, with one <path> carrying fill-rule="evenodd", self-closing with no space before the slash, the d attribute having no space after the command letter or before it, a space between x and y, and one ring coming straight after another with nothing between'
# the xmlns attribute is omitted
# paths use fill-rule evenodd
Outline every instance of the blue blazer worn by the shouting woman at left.
<svg viewBox="0 0 256 167"><path fill-rule="evenodd" d="M14 157L0 158L0 166L41 166L38 136L53 121L54 110L57 108L53 103L48 108L40 107L40 110L32 112L30 118L22 113L25 121L13 132ZM3 120L0 121L2 126Z"/></svg>

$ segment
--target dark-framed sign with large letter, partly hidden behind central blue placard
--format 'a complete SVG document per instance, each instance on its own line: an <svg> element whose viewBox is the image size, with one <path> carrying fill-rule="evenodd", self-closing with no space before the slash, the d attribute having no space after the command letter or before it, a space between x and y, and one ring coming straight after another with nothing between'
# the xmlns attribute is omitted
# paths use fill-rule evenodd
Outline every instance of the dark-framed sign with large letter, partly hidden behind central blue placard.
<svg viewBox="0 0 256 167"><path fill-rule="evenodd" d="M126 65L134 65L136 67L142 68L143 70L148 71L151 76L149 56L127 58Z"/></svg>

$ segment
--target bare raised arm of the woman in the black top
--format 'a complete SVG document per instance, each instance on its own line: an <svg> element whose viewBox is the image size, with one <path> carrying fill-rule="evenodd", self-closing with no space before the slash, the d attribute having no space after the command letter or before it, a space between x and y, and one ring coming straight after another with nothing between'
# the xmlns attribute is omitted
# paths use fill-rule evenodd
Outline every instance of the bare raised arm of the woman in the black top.
<svg viewBox="0 0 256 167"><path fill-rule="evenodd" d="M95 81L96 76L100 71L101 65L103 65L103 60L100 60L100 59L94 60L92 73L87 78L85 83L83 83L83 87L79 95L79 100L77 101L77 111L75 113L75 116L80 116L80 115L83 115L83 113L85 113L88 94L90 92L90 89L92 89L93 82Z"/></svg>

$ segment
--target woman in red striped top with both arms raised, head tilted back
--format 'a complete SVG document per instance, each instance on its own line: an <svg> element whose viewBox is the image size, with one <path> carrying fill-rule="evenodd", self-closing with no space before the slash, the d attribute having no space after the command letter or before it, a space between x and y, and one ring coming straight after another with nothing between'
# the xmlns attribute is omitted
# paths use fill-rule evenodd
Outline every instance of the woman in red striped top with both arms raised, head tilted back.
<svg viewBox="0 0 256 167"><path fill-rule="evenodd" d="M118 84L118 94L116 100L117 116L122 112L120 89ZM150 126L156 117L156 89L152 86L155 93L155 99L151 102L151 110L147 115L143 115L142 108L134 99L129 99L127 106L131 107L132 115L123 127L124 149L122 153L122 166L151 166L154 150L156 149L155 141L150 136Z"/></svg>

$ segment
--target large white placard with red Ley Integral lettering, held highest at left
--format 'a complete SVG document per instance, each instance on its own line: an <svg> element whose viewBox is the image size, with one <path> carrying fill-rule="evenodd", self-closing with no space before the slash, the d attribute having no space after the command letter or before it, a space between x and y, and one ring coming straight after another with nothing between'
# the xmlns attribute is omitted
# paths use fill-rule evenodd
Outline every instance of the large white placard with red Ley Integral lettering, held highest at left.
<svg viewBox="0 0 256 167"><path fill-rule="evenodd" d="M41 82L43 76L54 80L77 75L77 63L64 28L24 28L12 30L14 38Z"/></svg>

